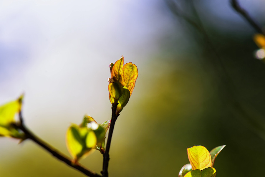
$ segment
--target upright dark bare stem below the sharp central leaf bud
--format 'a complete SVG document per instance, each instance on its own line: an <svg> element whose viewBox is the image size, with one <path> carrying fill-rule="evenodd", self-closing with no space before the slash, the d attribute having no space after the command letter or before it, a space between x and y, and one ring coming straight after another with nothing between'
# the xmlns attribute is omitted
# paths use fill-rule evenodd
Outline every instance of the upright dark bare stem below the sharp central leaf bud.
<svg viewBox="0 0 265 177"><path fill-rule="evenodd" d="M109 166L109 160L110 160L110 143L111 143L111 138L112 138L112 133L114 130L114 125L115 122L118 118L118 115L116 115L116 110L117 110L117 103L112 103L112 116L111 116L111 121L110 121L110 130L109 130L109 134L108 134L108 140L107 140L107 145L106 145L106 150L105 153L103 154L103 168L102 168L102 176L103 177L108 177L108 166Z"/></svg>

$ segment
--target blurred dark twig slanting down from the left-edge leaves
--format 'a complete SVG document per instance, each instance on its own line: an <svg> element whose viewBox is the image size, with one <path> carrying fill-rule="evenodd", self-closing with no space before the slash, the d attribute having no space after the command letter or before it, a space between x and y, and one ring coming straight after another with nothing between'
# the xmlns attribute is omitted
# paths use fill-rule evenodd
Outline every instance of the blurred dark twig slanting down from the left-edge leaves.
<svg viewBox="0 0 265 177"><path fill-rule="evenodd" d="M55 149L54 147L52 147L51 145L47 144L42 139L40 139L36 135L34 135L34 133L32 133L24 125L21 112L19 113L19 120L20 120L20 123L16 124L15 126L17 128L19 128L20 130L22 130L25 133L25 138L26 139L31 139L32 141L34 141L35 143L37 143L38 145L40 145L42 148L44 148L47 151L49 151L54 157L56 157L60 161L65 162L67 165L71 166L72 168L75 168L78 171L84 173L85 175L90 176L90 177L101 177L101 175L99 175L99 174L97 174L97 173L95 173L93 171L90 171L90 170L86 169L85 167L81 166L80 164L74 164L71 161L71 159L69 159L67 156L65 156L64 154L62 154L61 152L59 152L57 149Z"/></svg>

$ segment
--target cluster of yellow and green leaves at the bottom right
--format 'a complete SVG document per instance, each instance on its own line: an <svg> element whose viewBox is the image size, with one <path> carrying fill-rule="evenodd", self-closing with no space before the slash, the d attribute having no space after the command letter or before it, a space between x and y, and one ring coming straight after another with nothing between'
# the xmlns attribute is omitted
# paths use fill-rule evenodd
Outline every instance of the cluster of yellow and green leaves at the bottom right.
<svg viewBox="0 0 265 177"><path fill-rule="evenodd" d="M184 165L179 177L215 177L216 170L213 168L214 161L226 145L218 146L210 152L204 146L193 146L188 148L190 163Z"/></svg>

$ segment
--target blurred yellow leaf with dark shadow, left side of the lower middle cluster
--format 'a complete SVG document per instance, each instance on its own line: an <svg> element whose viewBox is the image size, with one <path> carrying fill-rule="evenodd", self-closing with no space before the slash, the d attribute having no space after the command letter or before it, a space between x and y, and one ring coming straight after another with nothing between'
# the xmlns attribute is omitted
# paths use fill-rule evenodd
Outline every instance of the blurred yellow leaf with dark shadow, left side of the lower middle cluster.
<svg viewBox="0 0 265 177"><path fill-rule="evenodd" d="M95 147L97 137L93 130L72 124L66 132L66 145L71 156L77 161L84 158Z"/></svg>

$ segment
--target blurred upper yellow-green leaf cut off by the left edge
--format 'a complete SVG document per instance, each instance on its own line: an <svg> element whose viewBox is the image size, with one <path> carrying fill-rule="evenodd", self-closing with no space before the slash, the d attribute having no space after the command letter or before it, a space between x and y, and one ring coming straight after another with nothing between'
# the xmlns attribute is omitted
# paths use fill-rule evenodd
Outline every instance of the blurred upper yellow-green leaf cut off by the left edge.
<svg viewBox="0 0 265 177"><path fill-rule="evenodd" d="M15 101L6 103L5 105L0 106L0 125L8 126L10 123L15 122L15 114L19 113L21 110L21 102L23 95Z"/></svg>

